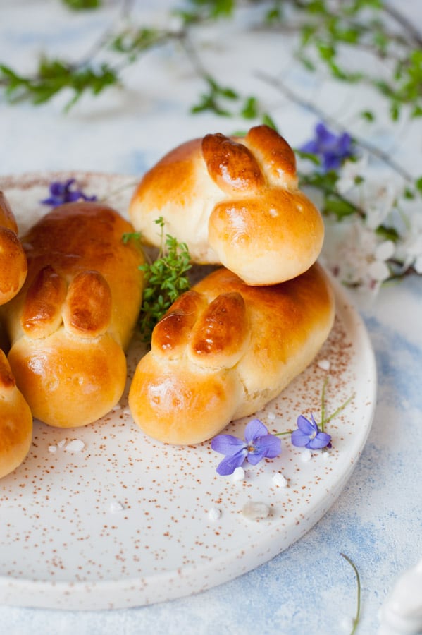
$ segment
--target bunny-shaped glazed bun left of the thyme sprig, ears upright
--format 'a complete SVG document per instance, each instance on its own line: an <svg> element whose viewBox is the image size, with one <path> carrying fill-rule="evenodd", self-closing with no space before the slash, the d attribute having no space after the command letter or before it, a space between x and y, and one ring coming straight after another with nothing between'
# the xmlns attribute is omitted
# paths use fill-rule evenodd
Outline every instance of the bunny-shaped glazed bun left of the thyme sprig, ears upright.
<svg viewBox="0 0 422 635"><path fill-rule="evenodd" d="M23 238L27 282L4 307L8 359L35 418L86 425L116 405L142 301L132 225L94 202L56 207Z"/></svg>

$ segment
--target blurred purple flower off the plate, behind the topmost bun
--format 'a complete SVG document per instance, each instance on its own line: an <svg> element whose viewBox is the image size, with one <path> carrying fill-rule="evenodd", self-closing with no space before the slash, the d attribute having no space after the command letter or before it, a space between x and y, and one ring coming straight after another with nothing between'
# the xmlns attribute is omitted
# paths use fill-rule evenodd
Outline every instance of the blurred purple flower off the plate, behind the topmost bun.
<svg viewBox="0 0 422 635"><path fill-rule="evenodd" d="M337 169L344 159L354 154L352 137L347 133L335 135L323 123L318 123L315 138L305 143L300 150L319 157L325 172Z"/></svg>

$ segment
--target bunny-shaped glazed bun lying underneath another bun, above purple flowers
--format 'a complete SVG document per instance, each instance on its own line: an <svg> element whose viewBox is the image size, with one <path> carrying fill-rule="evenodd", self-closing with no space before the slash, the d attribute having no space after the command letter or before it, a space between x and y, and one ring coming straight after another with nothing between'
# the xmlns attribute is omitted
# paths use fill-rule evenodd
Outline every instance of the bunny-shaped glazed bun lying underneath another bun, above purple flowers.
<svg viewBox="0 0 422 635"><path fill-rule="evenodd" d="M335 313L322 267L275 286L219 269L173 303L129 392L144 433L195 444L261 409L306 368Z"/></svg>

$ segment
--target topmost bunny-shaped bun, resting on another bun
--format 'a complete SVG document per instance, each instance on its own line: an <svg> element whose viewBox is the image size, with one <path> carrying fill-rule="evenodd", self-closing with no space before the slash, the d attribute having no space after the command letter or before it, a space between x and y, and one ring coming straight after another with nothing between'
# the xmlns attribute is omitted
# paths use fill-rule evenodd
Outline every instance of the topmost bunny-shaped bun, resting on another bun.
<svg viewBox="0 0 422 635"><path fill-rule="evenodd" d="M146 243L159 246L163 217L193 262L222 264L247 284L296 277L323 244L321 214L297 187L294 152L268 126L176 147L144 175L129 212Z"/></svg>

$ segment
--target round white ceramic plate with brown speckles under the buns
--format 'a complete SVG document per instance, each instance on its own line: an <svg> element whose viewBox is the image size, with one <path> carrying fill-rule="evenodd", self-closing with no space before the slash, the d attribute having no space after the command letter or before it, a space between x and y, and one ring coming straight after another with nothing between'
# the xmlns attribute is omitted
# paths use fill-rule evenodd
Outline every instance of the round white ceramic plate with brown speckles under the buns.
<svg viewBox="0 0 422 635"><path fill-rule="evenodd" d="M39 200L50 181L70 176L125 214L135 183L130 177L4 177L0 188L21 231L47 211ZM171 447L145 437L132 421L126 394L118 408L86 428L35 422L30 454L0 481L0 603L75 610L161 602L239 576L309 531L351 475L376 402L366 329L340 289L336 299L335 327L316 360L257 413L273 433L294 428L301 413L313 412L318 421L328 375L327 414L355 395L328 423L329 452L309 459L309 452L282 437L277 459L245 464L244 480L235 481L218 476L223 457L209 442ZM142 345L134 342L128 381L141 354ZM247 421L226 432L243 437ZM70 452L73 440L83 448ZM287 487L275 485L277 473ZM268 505L266 519L244 516L251 501ZM211 510L220 516L213 519Z"/></svg>

